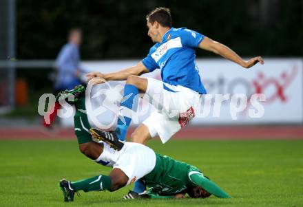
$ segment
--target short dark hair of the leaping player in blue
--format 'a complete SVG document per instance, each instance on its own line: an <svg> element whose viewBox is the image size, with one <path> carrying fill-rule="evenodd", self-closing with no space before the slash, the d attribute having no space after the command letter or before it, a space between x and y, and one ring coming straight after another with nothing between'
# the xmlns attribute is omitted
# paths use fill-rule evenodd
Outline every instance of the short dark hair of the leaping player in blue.
<svg viewBox="0 0 303 207"><path fill-rule="evenodd" d="M171 14L169 8L156 8L146 15L147 21L154 24L157 21L163 27L171 28Z"/></svg>

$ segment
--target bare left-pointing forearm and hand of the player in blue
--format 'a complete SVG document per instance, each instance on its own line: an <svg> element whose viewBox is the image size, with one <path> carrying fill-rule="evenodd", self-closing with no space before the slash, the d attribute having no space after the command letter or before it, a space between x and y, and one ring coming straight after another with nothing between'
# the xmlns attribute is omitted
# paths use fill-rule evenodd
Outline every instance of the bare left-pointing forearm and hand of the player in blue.
<svg viewBox="0 0 303 207"><path fill-rule="evenodd" d="M100 72L90 72L86 74L87 81L92 80L94 85L105 83L108 80L126 80L128 76L140 76L141 74L148 73L149 70L143 65L142 62L133 67L122 69L119 72L109 74L102 74Z"/></svg>

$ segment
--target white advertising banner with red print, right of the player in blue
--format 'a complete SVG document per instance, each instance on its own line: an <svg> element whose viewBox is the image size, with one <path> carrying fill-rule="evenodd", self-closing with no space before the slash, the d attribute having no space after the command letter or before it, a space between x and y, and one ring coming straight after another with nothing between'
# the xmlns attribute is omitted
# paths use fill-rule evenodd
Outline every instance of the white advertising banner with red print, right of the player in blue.
<svg viewBox="0 0 303 207"><path fill-rule="evenodd" d="M266 101L261 118L250 118L248 109L237 120L231 120L229 105L222 105L219 118L211 116L194 121L196 124L262 124L302 123L303 73L302 59L265 58L264 65L244 69L225 60L198 60L202 82L208 94L264 94Z"/></svg>

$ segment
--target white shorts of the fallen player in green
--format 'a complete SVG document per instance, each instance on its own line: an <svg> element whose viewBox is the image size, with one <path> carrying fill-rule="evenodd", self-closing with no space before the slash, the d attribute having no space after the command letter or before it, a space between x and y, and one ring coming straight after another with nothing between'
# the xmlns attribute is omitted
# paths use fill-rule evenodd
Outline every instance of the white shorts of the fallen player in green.
<svg viewBox="0 0 303 207"><path fill-rule="evenodd" d="M144 177L156 166L156 154L143 144L125 142L121 151L110 151L109 156L116 157L113 168L120 168L127 175L127 185ZM112 153L116 154L113 156Z"/></svg>

